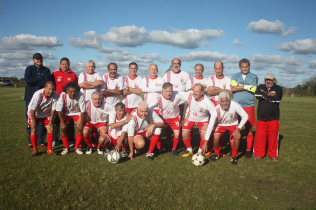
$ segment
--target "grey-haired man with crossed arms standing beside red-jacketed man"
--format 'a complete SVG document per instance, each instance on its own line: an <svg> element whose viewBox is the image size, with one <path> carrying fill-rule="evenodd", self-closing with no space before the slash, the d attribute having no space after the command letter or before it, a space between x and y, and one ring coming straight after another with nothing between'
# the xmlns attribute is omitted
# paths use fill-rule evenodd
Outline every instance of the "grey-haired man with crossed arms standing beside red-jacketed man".
<svg viewBox="0 0 316 210"><path fill-rule="evenodd" d="M95 62L88 60L85 66L87 72L81 72L78 77L78 84L81 88L80 91L85 96L85 100L91 99L91 94L99 92L100 87L103 85L102 75L95 72Z"/></svg>

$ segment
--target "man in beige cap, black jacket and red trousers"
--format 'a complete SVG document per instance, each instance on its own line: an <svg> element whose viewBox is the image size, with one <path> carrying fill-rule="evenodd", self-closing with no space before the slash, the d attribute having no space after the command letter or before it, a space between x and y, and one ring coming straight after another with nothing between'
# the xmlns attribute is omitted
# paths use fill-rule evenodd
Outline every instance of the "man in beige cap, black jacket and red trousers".
<svg viewBox="0 0 316 210"><path fill-rule="evenodd" d="M265 155L268 135L268 155L273 161L278 161L280 108L282 87L276 85L274 74L264 77L264 84L257 87L255 96L259 99L257 109L256 136L253 144L254 159L262 159Z"/></svg>

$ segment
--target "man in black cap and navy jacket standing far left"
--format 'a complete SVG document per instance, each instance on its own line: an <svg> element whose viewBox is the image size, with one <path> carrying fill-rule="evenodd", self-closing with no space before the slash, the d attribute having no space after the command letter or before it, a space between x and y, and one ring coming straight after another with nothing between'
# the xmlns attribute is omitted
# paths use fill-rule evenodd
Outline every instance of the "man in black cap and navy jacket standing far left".
<svg viewBox="0 0 316 210"><path fill-rule="evenodd" d="M44 88L45 83L51 79L51 71L43 66L43 56L40 53L35 53L33 55L33 63L34 65L28 66L25 69L24 79L26 83L25 87L25 94L24 94L24 100L25 100L25 116L27 120L27 107L32 99L33 94ZM28 142L27 149L32 148L32 142L30 139L31 134L31 128L27 126L27 133L28 133ZM47 148L44 145L44 141L46 138L46 129L43 129L43 123L39 123L38 125L38 139L37 142L39 144L39 147L41 148Z"/></svg>

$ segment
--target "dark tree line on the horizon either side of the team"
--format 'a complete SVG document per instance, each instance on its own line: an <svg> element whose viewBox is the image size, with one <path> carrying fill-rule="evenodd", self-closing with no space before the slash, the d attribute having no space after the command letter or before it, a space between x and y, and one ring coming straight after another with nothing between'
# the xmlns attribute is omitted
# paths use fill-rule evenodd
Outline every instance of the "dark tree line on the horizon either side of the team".
<svg viewBox="0 0 316 210"><path fill-rule="evenodd" d="M167 69L167 71L170 69L171 68ZM25 87L26 86L24 78L19 79L15 76L13 76L13 77L0 77L0 79L1 78L4 80L12 80L13 87L14 87L14 85L16 85L17 87ZM294 93L295 97L316 96L316 76L311 76L310 78L303 80L302 85L297 85L296 87L293 87L293 88L286 88L286 87L282 86L282 89L283 89L283 95L291 96Z"/></svg>

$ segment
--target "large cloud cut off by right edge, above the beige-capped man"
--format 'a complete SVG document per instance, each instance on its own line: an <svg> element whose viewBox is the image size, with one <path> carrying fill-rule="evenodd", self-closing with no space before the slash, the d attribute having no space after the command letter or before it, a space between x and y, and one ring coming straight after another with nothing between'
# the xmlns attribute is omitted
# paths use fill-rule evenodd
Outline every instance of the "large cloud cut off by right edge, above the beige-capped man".
<svg viewBox="0 0 316 210"><path fill-rule="evenodd" d="M316 39L297 39L295 42L285 42L278 45L276 49L286 52L292 51L293 54L316 54Z"/></svg>

